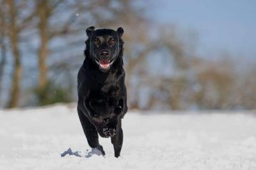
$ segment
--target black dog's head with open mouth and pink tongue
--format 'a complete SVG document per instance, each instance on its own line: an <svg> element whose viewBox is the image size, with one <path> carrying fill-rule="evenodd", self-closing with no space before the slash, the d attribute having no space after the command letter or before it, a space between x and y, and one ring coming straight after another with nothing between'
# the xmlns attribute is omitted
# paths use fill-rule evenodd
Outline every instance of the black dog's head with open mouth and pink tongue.
<svg viewBox="0 0 256 170"><path fill-rule="evenodd" d="M120 51L122 50L122 35L124 29L118 27L113 29L97 29L88 27L86 34L86 52L95 65L99 66L100 71L106 72L115 63ZM86 56L87 57L87 56Z"/></svg>

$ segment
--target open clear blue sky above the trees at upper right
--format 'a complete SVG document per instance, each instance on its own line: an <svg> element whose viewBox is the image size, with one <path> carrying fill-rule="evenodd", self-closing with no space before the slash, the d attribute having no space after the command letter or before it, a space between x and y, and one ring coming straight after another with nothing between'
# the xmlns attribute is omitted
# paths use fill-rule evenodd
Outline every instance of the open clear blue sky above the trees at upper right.
<svg viewBox="0 0 256 170"><path fill-rule="evenodd" d="M230 52L256 61L256 1L150 1L148 16L198 33L200 52Z"/></svg>

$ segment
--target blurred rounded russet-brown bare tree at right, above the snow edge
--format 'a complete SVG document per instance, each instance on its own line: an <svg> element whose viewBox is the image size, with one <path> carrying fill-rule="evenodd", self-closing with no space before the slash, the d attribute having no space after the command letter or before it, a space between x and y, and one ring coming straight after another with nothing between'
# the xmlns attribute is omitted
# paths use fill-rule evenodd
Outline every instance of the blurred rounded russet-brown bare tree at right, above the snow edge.
<svg viewBox="0 0 256 170"><path fill-rule="evenodd" d="M198 91L195 101L200 109L229 109L228 100L234 87L231 70L223 70L228 65L214 62L204 63L205 68L196 75Z"/></svg>

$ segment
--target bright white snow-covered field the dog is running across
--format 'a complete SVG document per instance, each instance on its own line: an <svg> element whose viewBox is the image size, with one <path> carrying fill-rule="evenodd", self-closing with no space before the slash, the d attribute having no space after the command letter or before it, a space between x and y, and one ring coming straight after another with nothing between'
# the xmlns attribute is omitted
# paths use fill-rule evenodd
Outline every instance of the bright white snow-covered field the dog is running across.
<svg viewBox="0 0 256 170"><path fill-rule="evenodd" d="M115 158L110 139L100 138L105 157L90 149L75 105L2 110L0 169L255 170L255 115L128 112L121 157ZM68 148L76 155L61 157Z"/></svg>

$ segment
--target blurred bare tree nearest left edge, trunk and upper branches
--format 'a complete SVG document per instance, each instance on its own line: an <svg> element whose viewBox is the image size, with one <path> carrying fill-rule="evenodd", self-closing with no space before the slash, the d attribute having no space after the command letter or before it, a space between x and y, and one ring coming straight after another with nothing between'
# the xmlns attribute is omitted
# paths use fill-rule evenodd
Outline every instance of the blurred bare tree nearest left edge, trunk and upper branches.
<svg viewBox="0 0 256 170"><path fill-rule="evenodd" d="M28 13L27 11L28 4L28 1L1 1L6 38L8 38L8 47L10 47L10 52L13 56L12 84L10 85L10 98L7 107L17 107L19 105L20 82L22 79L20 36L28 26L29 21L33 19L33 13Z"/></svg>

